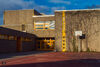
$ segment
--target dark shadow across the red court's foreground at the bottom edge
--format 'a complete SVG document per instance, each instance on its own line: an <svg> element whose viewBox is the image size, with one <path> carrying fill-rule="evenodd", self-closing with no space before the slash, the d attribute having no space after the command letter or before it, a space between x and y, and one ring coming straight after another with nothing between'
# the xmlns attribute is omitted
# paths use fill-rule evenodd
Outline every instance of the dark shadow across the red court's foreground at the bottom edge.
<svg viewBox="0 0 100 67"><path fill-rule="evenodd" d="M34 60L34 59L33 59ZM49 59L48 59L49 60ZM19 65L8 65L0 67L100 67L100 59L79 59L55 62L27 63Z"/></svg>

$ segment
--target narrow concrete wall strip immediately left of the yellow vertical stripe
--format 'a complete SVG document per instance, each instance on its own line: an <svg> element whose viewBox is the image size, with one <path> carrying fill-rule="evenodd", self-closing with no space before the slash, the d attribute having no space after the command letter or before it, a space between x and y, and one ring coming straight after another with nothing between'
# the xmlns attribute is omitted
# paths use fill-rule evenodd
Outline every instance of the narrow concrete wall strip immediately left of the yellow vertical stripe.
<svg viewBox="0 0 100 67"><path fill-rule="evenodd" d="M62 13L55 13L55 47L57 51L62 51Z"/></svg>

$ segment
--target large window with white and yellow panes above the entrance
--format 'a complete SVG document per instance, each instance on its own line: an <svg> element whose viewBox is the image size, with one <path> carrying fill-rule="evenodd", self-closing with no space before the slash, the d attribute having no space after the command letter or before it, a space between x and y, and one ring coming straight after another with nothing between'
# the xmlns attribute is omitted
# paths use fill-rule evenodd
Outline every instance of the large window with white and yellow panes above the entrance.
<svg viewBox="0 0 100 67"><path fill-rule="evenodd" d="M55 29L55 21L37 21L34 22L34 29Z"/></svg>

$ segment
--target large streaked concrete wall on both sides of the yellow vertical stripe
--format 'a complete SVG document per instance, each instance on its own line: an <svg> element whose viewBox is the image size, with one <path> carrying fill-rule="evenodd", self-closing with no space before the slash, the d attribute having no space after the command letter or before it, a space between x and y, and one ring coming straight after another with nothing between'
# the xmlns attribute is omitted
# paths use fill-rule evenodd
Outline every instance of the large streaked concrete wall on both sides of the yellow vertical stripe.
<svg viewBox="0 0 100 67"><path fill-rule="evenodd" d="M75 31L82 31L86 38L81 40L82 51L100 52L100 10L76 10L66 13L66 43L67 51L77 51L79 38ZM62 45L62 11L55 12L56 17L56 46L61 51ZM59 17L58 17L59 16Z"/></svg>

